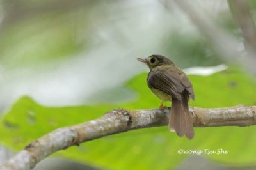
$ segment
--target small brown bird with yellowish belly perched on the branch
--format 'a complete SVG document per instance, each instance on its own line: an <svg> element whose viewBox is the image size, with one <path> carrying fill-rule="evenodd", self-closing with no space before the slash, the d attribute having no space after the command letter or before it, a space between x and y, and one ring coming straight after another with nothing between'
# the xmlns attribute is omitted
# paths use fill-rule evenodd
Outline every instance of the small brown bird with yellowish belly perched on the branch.
<svg viewBox="0 0 256 170"><path fill-rule="evenodd" d="M161 55L148 58L138 58L146 63L150 69L147 77L148 87L162 102L159 109L163 109L164 101L172 101L169 129L188 139L194 137L193 121L189 112L189 98L195 100L193 86L186 74L174 65L170 59Z"/></svg>

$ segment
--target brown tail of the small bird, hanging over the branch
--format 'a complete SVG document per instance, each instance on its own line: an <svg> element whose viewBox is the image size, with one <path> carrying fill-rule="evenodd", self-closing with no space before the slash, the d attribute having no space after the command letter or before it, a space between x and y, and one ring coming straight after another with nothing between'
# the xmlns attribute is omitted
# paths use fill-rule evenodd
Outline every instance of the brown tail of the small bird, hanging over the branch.
<svg viewBox="0 0 256 170"><path fill-rule="evenodd" d="M175 131L179 137L186 135L188 139L194 137L193 122L188 107L188 94L182 93L181 100L172 98L169 129Z"/></svg>

